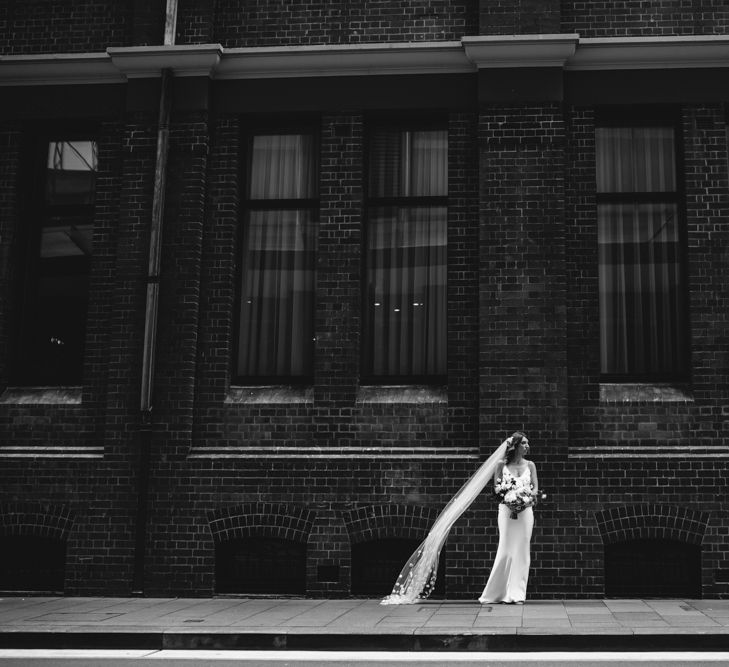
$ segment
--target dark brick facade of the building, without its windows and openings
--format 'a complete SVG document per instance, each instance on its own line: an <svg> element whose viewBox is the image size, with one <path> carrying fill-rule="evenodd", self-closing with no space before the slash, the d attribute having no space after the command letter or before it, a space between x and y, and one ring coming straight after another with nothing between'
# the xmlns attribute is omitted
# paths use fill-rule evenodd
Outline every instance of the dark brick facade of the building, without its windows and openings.
<svg viewBox="0 0 729 667"><path fill-rule="evenodd" d="M101 61L110 47L152 49L163 4L3 3L0 53ZM159 66L64 87L18 81L3 69L16 61L0 62L10 93L0 110L0 539L65 541L67 594L204 596L216 591L216 545L280 538L306 545L307 594L347 596L355 545L422 539L479 461L523 429L548 493L530 596L604 595L607 545L639 539L700 546L702 595L729 595L727 68L658 63L621 79L614 64L477 68L464 57L437 71L336 69L357 45L455 52L479 35L499 46L514 34L726 34L721 3L698 4L180 0L176 43L190 53L219 44L223 65L238 48L250 62L283 47L342 48L320 73L175 75L149 425L140 383ZM680 386L600 377L595 126L606 106L629 116L636 104L680 119L691 332L691 381ZM448 130L445 386L361 381L366 137L387 118ZM318 142L306 386L232 380L242 137L262 119L307 123ZM99 147L84 382L28 388L11 369L27 146L68 127L93 128ZM446 544L448 597L478 595L496 540L484 493Z"/></svg>

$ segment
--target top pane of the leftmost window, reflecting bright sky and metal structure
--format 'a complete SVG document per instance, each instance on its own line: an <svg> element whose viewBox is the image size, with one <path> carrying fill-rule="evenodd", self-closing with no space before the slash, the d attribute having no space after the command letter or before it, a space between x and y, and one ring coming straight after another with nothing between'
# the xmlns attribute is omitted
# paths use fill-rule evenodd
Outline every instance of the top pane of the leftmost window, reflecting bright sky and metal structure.
<svg viewBox="0 0 729 667"><path fill-rule="evenodd" d="M96 170L96 142L51 141L48 145L46 203L92 204Z"/></svg>

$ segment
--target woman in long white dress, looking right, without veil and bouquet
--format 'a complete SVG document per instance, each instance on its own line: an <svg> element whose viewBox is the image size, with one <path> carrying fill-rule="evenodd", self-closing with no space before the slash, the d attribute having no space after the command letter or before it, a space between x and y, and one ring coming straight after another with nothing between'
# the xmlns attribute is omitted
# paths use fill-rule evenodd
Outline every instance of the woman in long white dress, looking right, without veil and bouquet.
<svg viewBox="0 0 729 667"><path fill-rule="evenodd" d="M537 469L534 463L524 458L527 453L529 440L526 435L517 431L509 438L506 456L494 471L494 488L500 484L502 478L506 482L517 480L527 487L531 482L533 497L537 497ZM503 502L499 504L499 546L488 583L478 599L481 604L524 604L533 527L534 514L531 506L519 511L514 519L512 508Z"/></svg>

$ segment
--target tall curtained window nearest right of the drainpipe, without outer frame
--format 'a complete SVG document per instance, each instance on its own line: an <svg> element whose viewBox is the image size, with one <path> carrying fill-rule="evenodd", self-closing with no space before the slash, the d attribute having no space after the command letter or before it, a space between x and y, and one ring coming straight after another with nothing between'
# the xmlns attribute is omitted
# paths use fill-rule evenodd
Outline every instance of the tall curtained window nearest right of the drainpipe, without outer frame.
<svg viewBox="0 0 729 667"><path fill-rule="evenodd" d="M312 376L316 158L313 133L256 133L248 138L239 380Z"/></svg>

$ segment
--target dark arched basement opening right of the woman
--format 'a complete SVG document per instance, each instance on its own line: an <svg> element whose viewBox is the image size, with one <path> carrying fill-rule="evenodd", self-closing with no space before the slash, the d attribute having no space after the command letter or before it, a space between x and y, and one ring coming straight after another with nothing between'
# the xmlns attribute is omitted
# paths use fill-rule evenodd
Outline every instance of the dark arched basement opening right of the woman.
<svg viewBox="0 0 729 667"><path fill-rule="evenodd" d="M606 544L605 595L700 598L701 547L667 539Z"/></svg>

